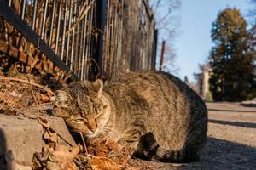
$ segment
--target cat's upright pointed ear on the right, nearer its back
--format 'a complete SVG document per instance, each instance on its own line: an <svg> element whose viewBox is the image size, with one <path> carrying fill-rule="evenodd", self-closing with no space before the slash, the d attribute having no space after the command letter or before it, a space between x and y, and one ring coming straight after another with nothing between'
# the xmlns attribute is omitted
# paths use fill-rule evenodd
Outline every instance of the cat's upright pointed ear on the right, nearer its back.
<svg viewBox="0 0 256 170"><path fill-rule="evenodd" d="M93 95L95 97L98 97L102 94L103 90L103 81L102 79L97 79L94 82L84 81L84 84L86 85L89 90L93 92Z"/></svg>

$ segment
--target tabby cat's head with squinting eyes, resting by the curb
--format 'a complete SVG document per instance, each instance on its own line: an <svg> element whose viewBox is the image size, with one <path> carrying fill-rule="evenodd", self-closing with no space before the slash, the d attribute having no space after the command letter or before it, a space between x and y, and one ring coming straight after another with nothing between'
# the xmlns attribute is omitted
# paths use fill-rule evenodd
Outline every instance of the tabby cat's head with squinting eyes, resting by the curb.
<svg viewBox="0 0 256 170"><path fill-rule="evenodd" d="M54 116L61 116L75 132L94 137L108 122L109 104L102 95L103 82L75 82L55 91Z"/></svg>

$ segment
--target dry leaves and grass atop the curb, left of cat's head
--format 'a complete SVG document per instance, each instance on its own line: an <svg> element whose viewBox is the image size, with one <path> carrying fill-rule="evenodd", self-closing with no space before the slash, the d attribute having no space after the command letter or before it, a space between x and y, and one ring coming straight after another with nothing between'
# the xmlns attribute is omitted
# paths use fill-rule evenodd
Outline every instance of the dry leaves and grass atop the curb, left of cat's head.
<svg viewBox="0 0 256 170"><path fill-rule="evenodd" d="M27 115L44 112L53 105L53 92L30 74L4 75L0 71L0 113ZM44 112L45 113L45 112Z"/></svg>

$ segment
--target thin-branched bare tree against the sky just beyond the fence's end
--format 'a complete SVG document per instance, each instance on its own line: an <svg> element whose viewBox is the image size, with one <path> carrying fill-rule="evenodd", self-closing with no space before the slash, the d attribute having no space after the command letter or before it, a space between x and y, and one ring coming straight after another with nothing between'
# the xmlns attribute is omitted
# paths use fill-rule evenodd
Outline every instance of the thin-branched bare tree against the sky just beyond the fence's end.
<svg viewBox="0 0 256 170"><path fill-rule="evenodd" d="M166 41L165 53L163 54L162 71L177 74L177 67L174 65L176 53L173 46L174 37L176 36L178 18L175 15L177 9L181 6L180 0L150 0L150 7L154 11L154 20L156 29L158 29L158 54L157 65L160 65L161 44ZM158 68L158 66L157 66Z"/></svg>

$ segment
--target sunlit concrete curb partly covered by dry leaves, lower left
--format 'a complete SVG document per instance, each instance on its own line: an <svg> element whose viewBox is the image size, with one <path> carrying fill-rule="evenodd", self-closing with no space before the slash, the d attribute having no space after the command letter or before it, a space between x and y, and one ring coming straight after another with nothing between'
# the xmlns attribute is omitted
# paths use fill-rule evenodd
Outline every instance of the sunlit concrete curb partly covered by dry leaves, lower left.
<svg viewBox="0 0 256 170"><path fill-rule="evenodd" d="M60 134L69 144L75 142L68 132L64 120L55 116L44 116L50 123L50 127ZM0 164L3 157L10 151L15 156L15 162L23 166L32 165L32 156L42 150L45 145L43 140L43 127L36 119L24 116L0 116ZM58 144L66 144L63 139L58 138ZM1 161L2 160L2 161ZM0 169L3 169L0 165Z"/></svg>

